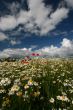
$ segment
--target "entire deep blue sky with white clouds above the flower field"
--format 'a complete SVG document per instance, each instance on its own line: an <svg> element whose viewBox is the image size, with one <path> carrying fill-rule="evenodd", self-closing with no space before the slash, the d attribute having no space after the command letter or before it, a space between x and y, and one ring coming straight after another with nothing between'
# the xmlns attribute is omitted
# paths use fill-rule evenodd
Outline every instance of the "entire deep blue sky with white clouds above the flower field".
<svg viewBox="0 0 73 110"><path fill-rule="evenodd" d="M0 0L0 58L73 56L73 0Z"/></svg>

